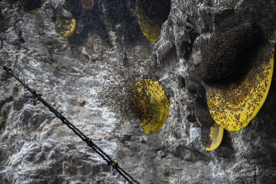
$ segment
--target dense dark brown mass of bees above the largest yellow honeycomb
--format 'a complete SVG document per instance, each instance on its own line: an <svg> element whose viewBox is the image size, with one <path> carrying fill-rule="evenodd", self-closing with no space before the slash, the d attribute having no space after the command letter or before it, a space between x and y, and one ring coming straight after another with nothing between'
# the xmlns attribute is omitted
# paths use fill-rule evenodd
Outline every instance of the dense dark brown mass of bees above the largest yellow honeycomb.
<svg viewBox="0 0 276 184"><path fill-rule="evenodd" d="M244 21L225 32L217 32L201 42L202 62L196 66L203 81L229 79L240 71L249 48L261 41L261 31L251 21Z"/></svg>

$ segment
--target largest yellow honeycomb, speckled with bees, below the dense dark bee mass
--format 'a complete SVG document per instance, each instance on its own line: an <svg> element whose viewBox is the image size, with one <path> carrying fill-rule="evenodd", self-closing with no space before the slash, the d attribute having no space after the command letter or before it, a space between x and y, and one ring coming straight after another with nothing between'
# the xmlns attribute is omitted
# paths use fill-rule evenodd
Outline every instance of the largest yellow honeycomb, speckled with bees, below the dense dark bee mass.
<svg viewBox="0 0 276 184"><path fill-rule="evenodd" d="M206 85L210 113L224 129L245 127L262 107L271 84L274 45L262 44L248 57L248 72L232 83Z"/></svg>

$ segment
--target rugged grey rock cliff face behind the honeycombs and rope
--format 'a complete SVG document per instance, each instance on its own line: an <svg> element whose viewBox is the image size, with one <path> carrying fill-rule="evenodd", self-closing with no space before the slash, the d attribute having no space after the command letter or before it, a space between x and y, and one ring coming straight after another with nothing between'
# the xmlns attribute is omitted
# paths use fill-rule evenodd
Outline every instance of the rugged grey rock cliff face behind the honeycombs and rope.
<svg viewBox="0 0 276 184"><path fill-rule="evenodd" d="M55 15L69 1L20 2L0 1L1 61L139 182L275 183L275 76L248 126L225 130L220 147L206 151L194 107L205 95L205 84L191 65L202 39L243 19L254 21L262 37L275 43L275 1L172 0L155 43L142 35L131 0L113 8L127 9L132 26L108 21L106 1L94 1L93 18L85 20L90 29L80 26L79 34L67 38L55 33ZM76 12L81 16L82 10ZM136 47L151 63L170 103L165 124L148 136L137 124L120 124L106 112L99 92L102 63L116 62L112 55L116 58L120 47L113 46L122 39L114 35L126 29L136 30L123 34L130 40L124 47ZM7 72L0 70L0 79L0 183L127 183Z"/></svg>

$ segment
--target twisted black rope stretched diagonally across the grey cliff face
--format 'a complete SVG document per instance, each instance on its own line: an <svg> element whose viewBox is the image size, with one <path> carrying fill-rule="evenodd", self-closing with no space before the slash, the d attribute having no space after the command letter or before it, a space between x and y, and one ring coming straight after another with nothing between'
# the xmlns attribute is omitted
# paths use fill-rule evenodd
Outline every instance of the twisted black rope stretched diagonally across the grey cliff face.
<svg viewBox="0 0 276 184"><path fill-rule="evenodd" d="M37 99L39 101L41 101L44 106L46 106L47 108L49 108L49 110L51 112L53 112L55 114L55 116L57 116L57 118L59 118L62 123L66 124L76 135L78 135L78 137L80 137L89 147L91 147L97 154L99 154L106 162L108 165L111 165L115 170L118 171L118 173L124 177L129 183L132 183L132 181L134 181L137 184L141 184L139 183L136 179L134 179L129 173L127 173L121 166L118 165L118 162L116 160L113 160L110 158L110 156L108 156L108 154L106 154L103 150L101 150L95 143L93 143L92 139L88 138L85 134L83 134L78 128L75 127L74 124L70 123L60 112L58 112L57 110L55 110L50 104L47 103L47 101L45 101L42 97L41 94L37 93L36 91L32 90L30 87L28 87L28 85L26 85L20 78L18 78L16 76L16 74L14 74L11 71L11 68L6 67L2 62L0 62L0 65L3 67L4 70L6 70L7 72L9 72L12 76L14 76L14 78L16 78L16 80L18 80L26 89L28 89L28 91L30 91L32 93L32 95L34 97L37 97ZM124 173L122 173L121 171ZM132 180L130 181L129 178Z"/></svg>

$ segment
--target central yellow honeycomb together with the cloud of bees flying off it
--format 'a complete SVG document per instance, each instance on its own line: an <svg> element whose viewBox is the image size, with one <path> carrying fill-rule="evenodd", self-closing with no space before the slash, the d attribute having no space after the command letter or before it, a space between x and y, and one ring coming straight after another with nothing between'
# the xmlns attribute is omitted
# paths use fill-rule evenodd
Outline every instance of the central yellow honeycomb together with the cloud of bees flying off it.
<svg viewBox="0 0 276 184"><path fill-rule="evenodd" d="M150 63L141 55L117 53L116 62L103 63L105 80L101 81L110 112L121 123L140 123L145 134L156 132L168 116L169 104L163 88L155 81ZM108 57L113 57L109 55Z"/></svg>

